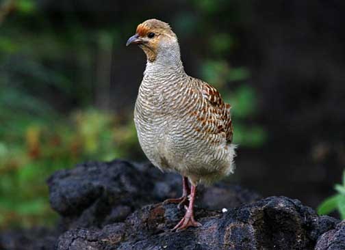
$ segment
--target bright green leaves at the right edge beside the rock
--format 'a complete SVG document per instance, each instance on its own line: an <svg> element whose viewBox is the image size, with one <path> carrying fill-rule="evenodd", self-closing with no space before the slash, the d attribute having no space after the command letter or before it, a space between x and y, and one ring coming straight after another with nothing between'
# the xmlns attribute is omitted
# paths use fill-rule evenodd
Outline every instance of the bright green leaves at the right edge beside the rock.
<svg viewBox="0 0 345 250"><path fill-rule="evenodd" d="M345 219L345 170L343 172L342 184L335 184L334 189L337 191L336 195L332 195L325 199L320 206L318 206L318 214L329 214L337 210L342 219Z"/></svg>

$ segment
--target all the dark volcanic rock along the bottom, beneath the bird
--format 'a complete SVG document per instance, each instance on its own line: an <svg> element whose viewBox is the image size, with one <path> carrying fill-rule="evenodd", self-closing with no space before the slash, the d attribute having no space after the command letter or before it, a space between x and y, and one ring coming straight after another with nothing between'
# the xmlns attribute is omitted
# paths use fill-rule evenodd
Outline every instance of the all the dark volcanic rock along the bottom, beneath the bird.
<svg viewBox="0 0 345 250"><path fill-rule="evenodd" d="M260 199L226 184L199 190L202 227L171 232L184 211L159 202L179 196L181 180L151 165L85 163L47 183L59 225L1 232L0 249L345 249L344 222L296 199Z"/></svg>

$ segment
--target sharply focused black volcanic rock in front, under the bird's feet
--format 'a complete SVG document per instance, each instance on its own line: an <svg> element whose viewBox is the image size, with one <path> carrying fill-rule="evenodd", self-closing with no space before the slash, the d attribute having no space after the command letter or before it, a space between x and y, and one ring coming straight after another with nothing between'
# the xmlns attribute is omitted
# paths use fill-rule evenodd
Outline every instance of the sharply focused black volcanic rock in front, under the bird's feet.
<svg viewBox="0 0 345 250"><path fill-rule="evenodd" d="M173 204L136 210L125 223L96 229L75 229L57 240L57 250L76 249L314 249L318 236L337 220L287 197L269 197L225 213L196 210L203 227L170 229L183 211Z"/></svg>

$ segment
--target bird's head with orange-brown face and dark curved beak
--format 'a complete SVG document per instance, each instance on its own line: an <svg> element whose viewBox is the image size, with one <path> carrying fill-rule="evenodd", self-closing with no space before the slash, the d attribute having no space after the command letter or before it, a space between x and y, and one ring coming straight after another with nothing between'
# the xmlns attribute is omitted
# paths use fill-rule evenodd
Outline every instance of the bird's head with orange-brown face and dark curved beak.
<svg viewBox="0 0 345 250"><path fill-rule="evenodd" d="M157 19L149 19L140 23L136 34L127 40L126 46L129 44L138 44L151 62L155 61L159 54L179 49L177 36L172 32L168 23Z"/></svg>

